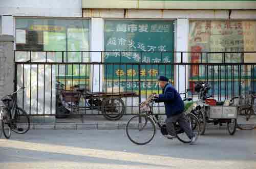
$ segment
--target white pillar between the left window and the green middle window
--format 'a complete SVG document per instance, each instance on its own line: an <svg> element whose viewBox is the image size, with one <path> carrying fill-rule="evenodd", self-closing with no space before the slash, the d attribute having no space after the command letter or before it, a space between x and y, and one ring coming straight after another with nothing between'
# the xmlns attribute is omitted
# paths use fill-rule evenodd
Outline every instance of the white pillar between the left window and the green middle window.
<svg viewBox="0 0 256 169"><path fill-rule="evenodd" d="M103 51L103 19L102 18L92 18L91 19L91 40L90 49L91 51ZM101 62L101 52L91 52L91 62ZM102 66L94 65L91 67L91 89L92 92L102 91L103 82L103 71Z"/></svg>

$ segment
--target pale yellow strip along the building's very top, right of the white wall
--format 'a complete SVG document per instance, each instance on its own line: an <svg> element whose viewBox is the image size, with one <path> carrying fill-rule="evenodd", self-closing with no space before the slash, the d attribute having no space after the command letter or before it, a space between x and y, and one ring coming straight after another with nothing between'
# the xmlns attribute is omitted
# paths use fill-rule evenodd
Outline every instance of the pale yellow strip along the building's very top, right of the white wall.
<svg viewBox="0 0 256 169"><path fill-rule="evenodd" d="M256 9L256 1L82 0L84 9Z"/></svg>

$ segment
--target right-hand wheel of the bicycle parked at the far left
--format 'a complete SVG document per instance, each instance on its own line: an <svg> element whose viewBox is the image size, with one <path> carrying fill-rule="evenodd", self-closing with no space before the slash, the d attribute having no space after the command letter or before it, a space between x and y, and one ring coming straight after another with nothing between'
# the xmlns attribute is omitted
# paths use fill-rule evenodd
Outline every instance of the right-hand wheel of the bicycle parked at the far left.
<svg viewBox="0 0 256 169"><path fill-rule="evenodd" d="M18 134L26 133L30 128L30 120L27 112L17 107L14 119L12 120L12 131Z"/></svg>

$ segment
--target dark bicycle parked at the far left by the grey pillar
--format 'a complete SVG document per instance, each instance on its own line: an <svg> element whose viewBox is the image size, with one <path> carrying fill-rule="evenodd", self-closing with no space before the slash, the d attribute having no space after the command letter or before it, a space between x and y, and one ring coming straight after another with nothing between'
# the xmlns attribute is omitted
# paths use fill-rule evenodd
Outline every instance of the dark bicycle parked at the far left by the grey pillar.
<svg viewBox="0 0 256 169"><path fill-rule="evenodd" d="M16 97L14 96L21 89L25 89L25 87L19 88L16 92L7 94L1 99L4 105L1 106L0 121L2 132L6 138L10 138L11 131L24 134L30 129L29 116L24 109L17 106Z"/></svg>

